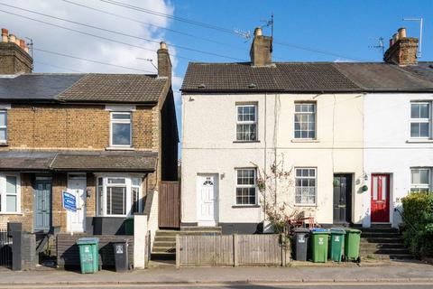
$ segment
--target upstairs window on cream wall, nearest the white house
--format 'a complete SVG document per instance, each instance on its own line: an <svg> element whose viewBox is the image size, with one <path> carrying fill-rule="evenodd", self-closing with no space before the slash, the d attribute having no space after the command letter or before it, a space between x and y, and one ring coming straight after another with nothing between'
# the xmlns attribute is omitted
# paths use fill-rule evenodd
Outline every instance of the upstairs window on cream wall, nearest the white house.
<svg viewBox="0 0 433 289"><path fill-rule="evenodd" d="M295 138L316 138L316 104L295 103Z"/></svg>

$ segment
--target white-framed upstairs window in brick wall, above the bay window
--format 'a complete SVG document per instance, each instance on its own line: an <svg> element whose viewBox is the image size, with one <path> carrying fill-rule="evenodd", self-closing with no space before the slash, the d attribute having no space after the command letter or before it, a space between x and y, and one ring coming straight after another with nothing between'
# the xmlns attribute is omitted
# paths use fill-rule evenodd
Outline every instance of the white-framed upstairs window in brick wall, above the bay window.
<svg viewBox="0 0 433 289"><path fill-rule="evenodd" d="M130 112L111 113L110 146L132 146L132 122Z"/></svg>

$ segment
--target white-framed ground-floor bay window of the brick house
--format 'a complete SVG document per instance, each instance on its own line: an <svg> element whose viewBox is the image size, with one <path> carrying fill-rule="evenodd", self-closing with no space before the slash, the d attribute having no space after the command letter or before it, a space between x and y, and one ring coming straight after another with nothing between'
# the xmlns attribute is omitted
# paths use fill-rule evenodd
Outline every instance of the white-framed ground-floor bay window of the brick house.
<svg viewBox="0 0 433 289"><path fill-rule="evenodd" d="M129 216L142 211L142 177L97 177L97 214Z"/></svg>

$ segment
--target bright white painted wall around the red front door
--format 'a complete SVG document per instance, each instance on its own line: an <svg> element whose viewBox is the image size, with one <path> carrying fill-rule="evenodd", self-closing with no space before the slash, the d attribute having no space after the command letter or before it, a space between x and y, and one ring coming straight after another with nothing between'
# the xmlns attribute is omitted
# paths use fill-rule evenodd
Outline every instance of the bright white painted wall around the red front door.
<svg viewBox="0 0 433 289"><path fill-rule="evenodd" d="M398 227L401 217L393 208L410 191L410 167L433 167L433 140L410 140L410 101L433 101L433 94L367 94L364 98L364 171L390 173L392 206L390 220ZM369 227L371 191L364 195L363 225Z"/></svg>

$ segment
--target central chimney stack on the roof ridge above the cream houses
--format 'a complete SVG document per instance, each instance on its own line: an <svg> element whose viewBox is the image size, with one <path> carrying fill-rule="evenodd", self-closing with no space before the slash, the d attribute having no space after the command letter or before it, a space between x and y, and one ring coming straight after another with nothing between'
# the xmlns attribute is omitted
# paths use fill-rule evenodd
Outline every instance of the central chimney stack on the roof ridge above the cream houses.
<svg viewBox="0 0 433 289"><path fill-rule="evenodd" d="M250 58L252 66L260 67L272 64L272 37L263 36L262 27L257 27L254 30Z"/></svg>

